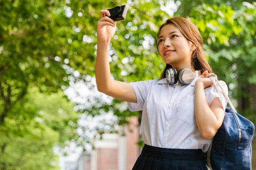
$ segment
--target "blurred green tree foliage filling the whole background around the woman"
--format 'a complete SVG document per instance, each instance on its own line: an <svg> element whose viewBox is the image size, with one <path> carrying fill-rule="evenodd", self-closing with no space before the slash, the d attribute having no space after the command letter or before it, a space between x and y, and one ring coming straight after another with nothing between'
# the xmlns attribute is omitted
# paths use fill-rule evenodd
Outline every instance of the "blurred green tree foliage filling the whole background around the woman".
<svg viewBox="0 0 256 170"><path fill-rule="evenodd" d="M256 83L256 3L175 2L181 3L175 16L198 26L205 55L218 78L227 82L230 95L238 101L253 100L247 87ZM124 82L159 79L165 63L157 53L155 37L169 18L161 10L166 0L0 0L0 169L55 169L50 163L57 160L52 153L55 142L62 147L70 139L82 146L91 142L86 133L78 136L74 131L79 127L78 115L60 90L80 81L95 88L91 81L99 12L125 3L128 14L117 23L110 45L112 76ZM116 124L127 125L126 117L140 114L131 113L117 99L92 99L85 100L93 105L77 111L90 116L111 111L118 116L109 125L111 130L97 128L99 134L116 132ZM256 122L253 108L240 108Z"/></svg>

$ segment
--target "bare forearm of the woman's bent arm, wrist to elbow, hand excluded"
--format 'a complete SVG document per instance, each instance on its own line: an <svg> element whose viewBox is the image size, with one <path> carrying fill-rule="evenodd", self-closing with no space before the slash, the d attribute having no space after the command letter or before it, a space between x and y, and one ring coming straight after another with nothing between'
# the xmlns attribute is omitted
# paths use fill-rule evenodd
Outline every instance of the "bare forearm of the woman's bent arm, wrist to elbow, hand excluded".
<svg viewBox="0 0 256 170"><path fill-rule="evenodd" d="M207 103L204 85L201 82L195 85L195 118L202 136L211 139L219 128L219 120Z"/></svg>

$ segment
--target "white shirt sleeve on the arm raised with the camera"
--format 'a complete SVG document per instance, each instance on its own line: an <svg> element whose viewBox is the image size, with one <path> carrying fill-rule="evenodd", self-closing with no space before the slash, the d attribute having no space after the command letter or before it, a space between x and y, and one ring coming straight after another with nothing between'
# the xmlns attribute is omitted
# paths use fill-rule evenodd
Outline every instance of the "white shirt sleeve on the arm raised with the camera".
<svg viewBox="0 0 256 170"><path fill-rule="evenodd" d="M144 102L148 94L148 90L152 84L152 81L153 80L130 82L130 84L134 88L134 91L137 97L137 103L127 102L127 105L130 111L143 110Z"/></svg>

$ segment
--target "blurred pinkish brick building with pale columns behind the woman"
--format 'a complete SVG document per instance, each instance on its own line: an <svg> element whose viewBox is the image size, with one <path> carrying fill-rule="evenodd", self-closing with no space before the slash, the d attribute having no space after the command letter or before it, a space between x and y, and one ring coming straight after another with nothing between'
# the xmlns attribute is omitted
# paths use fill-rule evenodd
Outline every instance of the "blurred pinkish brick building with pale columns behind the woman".
<svg viewBox="0 0 256 170"><path fill-rule="evenodd" d="M65 161L65 170L131 170L140 155L138 118L130 119L125 136L103 134L95 142L95 150L84 152L76 162Z"/></svg>

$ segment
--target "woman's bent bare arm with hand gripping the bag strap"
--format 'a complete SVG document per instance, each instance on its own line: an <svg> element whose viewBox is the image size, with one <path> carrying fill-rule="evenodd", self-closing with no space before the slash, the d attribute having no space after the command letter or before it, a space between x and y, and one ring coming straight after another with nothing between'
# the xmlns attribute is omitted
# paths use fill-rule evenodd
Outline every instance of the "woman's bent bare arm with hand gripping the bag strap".
<svg viewBox="0 0 256 170"><path fill-rule="evenodd" d="M207 103L204 88L212 85L207 73L205 71L195 83L195 118L204 139L212 139L221 127L225 113L218 98L213 99L210 105Z"/></svg>

